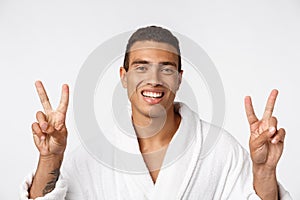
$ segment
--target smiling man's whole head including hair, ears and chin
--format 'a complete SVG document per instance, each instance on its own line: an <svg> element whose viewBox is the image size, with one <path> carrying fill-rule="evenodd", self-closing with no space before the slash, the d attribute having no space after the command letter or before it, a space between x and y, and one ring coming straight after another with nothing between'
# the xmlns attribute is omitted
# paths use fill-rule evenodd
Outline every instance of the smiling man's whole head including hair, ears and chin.
<svg viewBox="0 0 300 200"><path fill-rule="evenodd" d="M178 40L166 29L150 26L130 37L120 77L134 116L173 111L182 77Z"/></svg>

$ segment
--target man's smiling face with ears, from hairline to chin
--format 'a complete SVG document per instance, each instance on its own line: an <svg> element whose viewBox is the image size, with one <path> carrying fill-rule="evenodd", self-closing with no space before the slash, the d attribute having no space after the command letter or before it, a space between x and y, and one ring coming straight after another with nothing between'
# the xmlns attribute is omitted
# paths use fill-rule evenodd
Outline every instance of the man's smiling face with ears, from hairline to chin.
<svg viewBox="0 0 300 200"><path fill-rule="evenodd" d="M166 43L135 42L130 49L128 71L122 67L120 76L127 88L132 114L159 116L161 106L166 112L173 108L181 82L177 51Z"/></svg>

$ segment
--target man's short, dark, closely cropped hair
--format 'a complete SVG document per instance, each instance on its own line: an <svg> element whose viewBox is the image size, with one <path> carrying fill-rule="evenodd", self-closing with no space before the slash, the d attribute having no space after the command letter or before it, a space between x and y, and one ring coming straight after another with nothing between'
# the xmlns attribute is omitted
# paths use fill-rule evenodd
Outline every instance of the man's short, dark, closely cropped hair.
<svg viewBox="0 0 300 200"><path fill-rule="evenodd" d="M126 71L128 71L129 68L130 48L135 42L138 41L154 41L172 45L177 50L178 71L181 71L181 54L178 39L171 33L171 31L158 26L147 26L144 28L139 28L131 35L126 46L126 52L123 62L123 66Z"/></svg>

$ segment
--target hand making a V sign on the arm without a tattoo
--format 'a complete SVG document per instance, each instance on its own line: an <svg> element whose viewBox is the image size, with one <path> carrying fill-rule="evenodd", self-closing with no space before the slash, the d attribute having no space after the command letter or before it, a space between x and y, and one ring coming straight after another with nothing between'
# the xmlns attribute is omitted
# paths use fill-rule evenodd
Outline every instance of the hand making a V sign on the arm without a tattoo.
<svg viewBox="0 0 300 200"><path fill-rule="evenodd" d="M259 120L252 106L249 96L245 97L245 110L250 125L250 154L254 165L275 170L283 151L285 130L277 130L277 119L272 116L277 90L272 90L261 120Z"/></svg>

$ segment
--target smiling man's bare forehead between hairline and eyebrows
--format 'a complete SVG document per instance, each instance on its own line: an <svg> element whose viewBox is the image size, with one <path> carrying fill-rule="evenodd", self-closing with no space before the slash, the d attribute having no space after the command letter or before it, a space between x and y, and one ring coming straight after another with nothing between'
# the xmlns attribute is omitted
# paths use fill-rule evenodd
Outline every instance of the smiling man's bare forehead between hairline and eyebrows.
<svg viewBox="0 0 300 200"><path fill-rule="evenodd" d="M178 52L170 44L154 41L138 41L130 48L129 64L134 60L149 62L178 62Z"/></svg>

